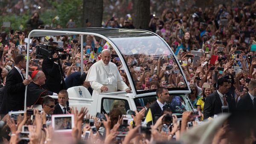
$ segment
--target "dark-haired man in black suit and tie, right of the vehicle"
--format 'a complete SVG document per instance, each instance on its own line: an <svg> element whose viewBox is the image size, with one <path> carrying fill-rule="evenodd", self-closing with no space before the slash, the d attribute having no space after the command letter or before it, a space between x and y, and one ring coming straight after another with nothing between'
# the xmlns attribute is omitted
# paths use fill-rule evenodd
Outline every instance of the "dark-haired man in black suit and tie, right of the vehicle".
<svg viewBox="0 0 256 144"><path fill-rule="evenodd" d="M204 119L221 113L222 106L228 106L229 112L236 109L235 99L231 95L226 95L229 88L230 84L227 78L218 79L218 90L206 97L204 104Z"/></svg>

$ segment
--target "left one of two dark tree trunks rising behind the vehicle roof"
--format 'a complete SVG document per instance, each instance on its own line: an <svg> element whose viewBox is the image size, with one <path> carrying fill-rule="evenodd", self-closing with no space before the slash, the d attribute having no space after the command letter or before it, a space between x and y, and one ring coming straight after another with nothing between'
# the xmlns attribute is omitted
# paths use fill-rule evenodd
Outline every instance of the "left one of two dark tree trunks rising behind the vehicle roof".
<svg viewBox="0 0 256 144"><path fill-rule="evenodd" d="M102 26L103 0L83 0L82 26ZM90 25L88 25L89 22Z"/></svg>

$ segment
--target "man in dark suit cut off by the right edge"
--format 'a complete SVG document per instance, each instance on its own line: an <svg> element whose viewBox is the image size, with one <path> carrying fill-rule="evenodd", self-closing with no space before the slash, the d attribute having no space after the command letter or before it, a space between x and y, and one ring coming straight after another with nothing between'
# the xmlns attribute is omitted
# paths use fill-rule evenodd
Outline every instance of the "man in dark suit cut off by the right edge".
<svg viewBox="0 0 256 144"><path fill-rule="evenodd" d="M237 109L244 112L256 112L256 80L249 82L249 91L244 95L237 104Z"/></svg>

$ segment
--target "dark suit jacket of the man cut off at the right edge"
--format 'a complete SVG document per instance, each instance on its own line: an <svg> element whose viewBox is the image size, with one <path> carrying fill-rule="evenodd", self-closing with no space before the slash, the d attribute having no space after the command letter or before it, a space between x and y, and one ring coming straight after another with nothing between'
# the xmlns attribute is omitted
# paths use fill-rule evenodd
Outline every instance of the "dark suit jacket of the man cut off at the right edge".
<svg viewBox="0 0 256 144"><path fill-rule="evenodd" d="M248 111L255 111L256 112L256 108L253 106L253 101L250 98L250 95L249 95L248 92L237 103L237 109L241 110L241 111L244 111L244 112L248 112Z"/></svg>

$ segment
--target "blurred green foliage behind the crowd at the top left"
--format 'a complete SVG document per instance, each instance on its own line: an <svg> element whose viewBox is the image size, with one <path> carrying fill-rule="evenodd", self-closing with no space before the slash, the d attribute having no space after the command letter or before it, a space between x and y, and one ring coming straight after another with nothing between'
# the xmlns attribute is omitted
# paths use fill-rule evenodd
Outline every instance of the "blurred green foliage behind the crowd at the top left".
<svg viewBox="0 0 256 144"><path fill-rule="evenodd" d="M44 21L44 25L50 25L52 19L55 16L59 17L59 20L55 20L54 26L60 24L63 28L66 27L67 22L70 19L76 22L76 26L81 27L82 6L83 0L48 0L52 7L47 8L46 11L40 12L40 19ZM3 22L10 21L12 29L19 29L20 25L26 27L26 23L31 17L30 11L25 14L8 14L6 16L0 15L0 26ZM3 29L3 31L9 32L9 29Z"/></svg>

